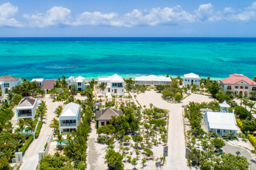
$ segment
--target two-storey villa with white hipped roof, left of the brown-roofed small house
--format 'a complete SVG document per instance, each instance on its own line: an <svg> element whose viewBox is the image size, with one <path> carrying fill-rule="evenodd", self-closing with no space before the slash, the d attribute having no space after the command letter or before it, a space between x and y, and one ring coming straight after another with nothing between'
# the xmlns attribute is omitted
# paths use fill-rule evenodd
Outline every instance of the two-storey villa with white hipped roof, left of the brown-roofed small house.
<svg viewBox="0 0 256 170"><path fill-rule="evenodd" d="M81 119L81 106L76 103L68 103L59 116L60 133L76 131Z"/></svg>

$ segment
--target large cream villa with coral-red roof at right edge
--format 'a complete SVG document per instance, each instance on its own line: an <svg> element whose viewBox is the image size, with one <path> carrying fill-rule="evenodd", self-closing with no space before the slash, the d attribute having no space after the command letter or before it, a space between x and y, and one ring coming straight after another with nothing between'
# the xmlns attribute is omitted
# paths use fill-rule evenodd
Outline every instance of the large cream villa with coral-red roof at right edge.
<svg viewBox="0 0 256 170"><path fill-rule="evenodd" d="M230 74L229 77L220 80L220 88L249 97L251 91L256 91L256 82L242 74Z"/></svg>

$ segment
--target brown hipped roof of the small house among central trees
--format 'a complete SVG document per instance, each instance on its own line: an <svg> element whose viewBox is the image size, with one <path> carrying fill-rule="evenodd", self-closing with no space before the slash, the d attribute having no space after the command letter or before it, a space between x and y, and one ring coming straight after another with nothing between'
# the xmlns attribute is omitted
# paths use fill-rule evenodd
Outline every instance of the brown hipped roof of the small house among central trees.
<svg viewBox="0 0 256 170"><path fill-rule="evenodd" d="M112 108L107 108L102 111L96 111L96 120L109 120L111 116L123 115L122 111L118 111Z"/></svg>

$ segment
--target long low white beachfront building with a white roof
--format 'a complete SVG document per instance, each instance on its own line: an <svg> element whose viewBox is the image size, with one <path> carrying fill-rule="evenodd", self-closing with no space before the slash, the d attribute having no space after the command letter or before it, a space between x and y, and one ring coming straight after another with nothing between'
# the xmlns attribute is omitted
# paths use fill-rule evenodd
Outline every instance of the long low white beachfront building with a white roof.
<svg viewBox="0 0 256 170"><path fill-rule="evenodd" d="M170 77L164 76L141 76L135 77L135 85L148 85L148 86L156 86L156 85L171 85L172 79Z"/></svg>

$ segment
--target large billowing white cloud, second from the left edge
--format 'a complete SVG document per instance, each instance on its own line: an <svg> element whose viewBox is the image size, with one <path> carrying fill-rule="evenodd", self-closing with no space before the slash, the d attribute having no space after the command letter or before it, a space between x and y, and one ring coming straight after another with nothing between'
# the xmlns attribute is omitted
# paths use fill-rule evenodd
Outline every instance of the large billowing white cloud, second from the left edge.
<svg viewBox="0 0 256 170"><path fill-rule="evenodd" d="M31 27L63 27L70 25L70 13L71 11L68 8L64 8L62 6L54 6L49 9L46 14L23 14L23 17L29 21L29 26Z"/></svg>

